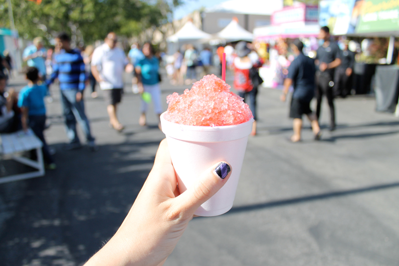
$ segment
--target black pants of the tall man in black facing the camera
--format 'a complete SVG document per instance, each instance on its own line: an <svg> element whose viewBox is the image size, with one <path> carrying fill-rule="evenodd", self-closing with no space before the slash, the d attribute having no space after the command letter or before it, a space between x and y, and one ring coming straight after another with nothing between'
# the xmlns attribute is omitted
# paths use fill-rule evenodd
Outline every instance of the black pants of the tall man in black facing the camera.
<svg viewBox="0 0 399 266"><path fill-rule="evenodd" d="M334 109L334 92L333 92L334 85L333 86L331 85L333 85L333 82L332 82L332 77L329 73L326 72L316 73L317 120L319 120L320 117L321 99L324 94L326 95L328 105L330 106L330 127L334 128L335 127L335 109Z"/></svg>

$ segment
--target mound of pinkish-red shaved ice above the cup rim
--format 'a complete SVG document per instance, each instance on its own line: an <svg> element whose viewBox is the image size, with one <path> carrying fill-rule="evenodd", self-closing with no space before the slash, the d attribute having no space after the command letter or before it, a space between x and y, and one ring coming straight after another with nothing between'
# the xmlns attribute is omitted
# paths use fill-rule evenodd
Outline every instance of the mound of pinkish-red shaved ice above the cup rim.
<svg viewBox="0 0 399 266"><path fill-rule="evenodd" d="M230 86L215 75L206 75L184 94L167 97L164 118L189 126L230 126L253 118L249 106L230 91Z"/></svg>

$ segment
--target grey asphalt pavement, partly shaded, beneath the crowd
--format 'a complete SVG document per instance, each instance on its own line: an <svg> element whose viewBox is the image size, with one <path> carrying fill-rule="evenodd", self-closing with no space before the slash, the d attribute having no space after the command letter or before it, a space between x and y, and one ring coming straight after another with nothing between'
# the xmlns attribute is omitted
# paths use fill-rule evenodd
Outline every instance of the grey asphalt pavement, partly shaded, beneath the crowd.
<svg viewBox="0 0 399 266"><path fill-rule="evenodd" d="M163 84L164 98L173 91L183 87ZM288 104L279 95L259 94L259 135L248 141L233 209L194 219L165 265L398 266L398 118L376 113L373 98L337 99L335 132L325 129L314 142L306 128L304 141L291 144ZM126 130L118 134L108 128L103 100L86 99L100 150L62 151L54 93L46 137L58 169L0 185L2 215L11 217L1 227L0 265L82 265L140 191L164 137L156 117L151 111L150 126L140 127L139 97L127 91L119 112Z"/></svg>

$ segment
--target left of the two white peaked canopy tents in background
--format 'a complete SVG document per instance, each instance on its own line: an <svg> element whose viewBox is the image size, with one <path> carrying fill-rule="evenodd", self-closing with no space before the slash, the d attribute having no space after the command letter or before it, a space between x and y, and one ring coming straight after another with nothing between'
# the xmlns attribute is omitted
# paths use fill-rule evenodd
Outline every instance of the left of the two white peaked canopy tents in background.
<svg viewBox="0 0 399 266"><path fill-rule="evenodd" d="M197 49L202 49L202 39L209 39L210 34L197 28L192 21L187 21L184 26L172 36L167 38L168 53L173 54L181 48L183 44L191 43Z"/></svg>

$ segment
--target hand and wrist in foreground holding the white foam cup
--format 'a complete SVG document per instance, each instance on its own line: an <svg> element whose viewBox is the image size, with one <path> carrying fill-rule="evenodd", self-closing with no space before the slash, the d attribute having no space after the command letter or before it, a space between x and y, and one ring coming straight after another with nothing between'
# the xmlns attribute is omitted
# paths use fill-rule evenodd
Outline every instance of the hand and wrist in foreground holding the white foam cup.
<svg viewBox="0 0 399 266"><path fill-rule="evenodd" d="M121 227L85 266L160 266L172 253L193 219L194 212L227 181L205 170L197 185L180 194L177 177L164 139L153 169Z"/></svg>

